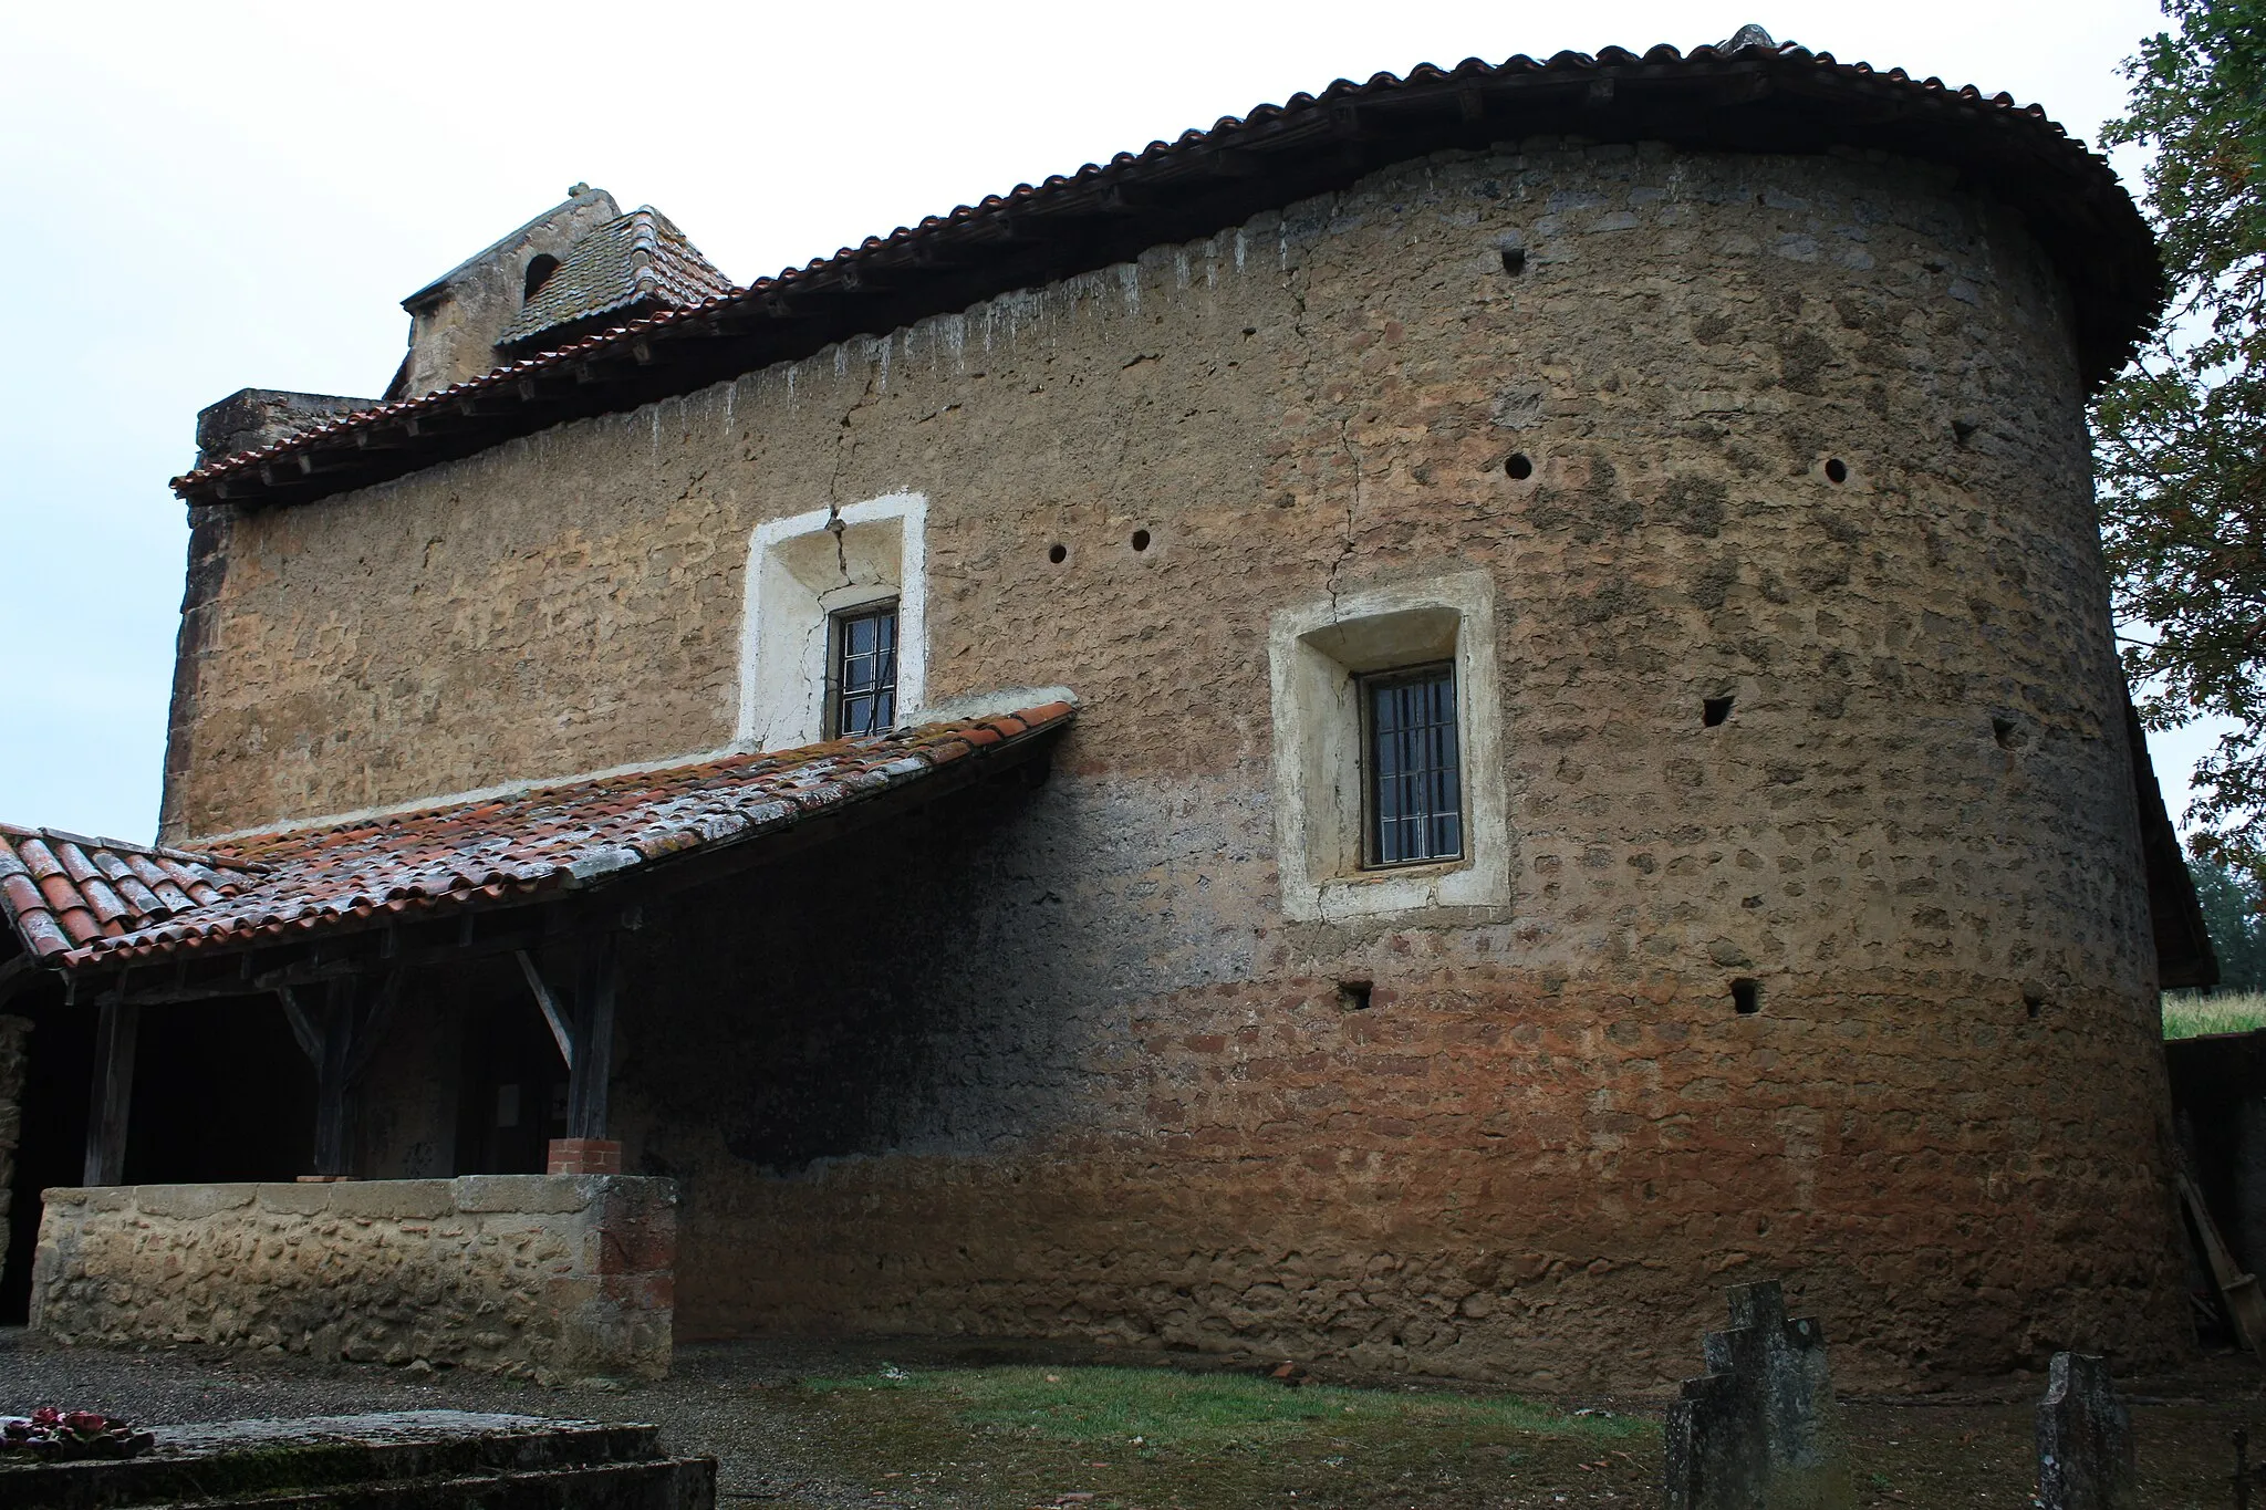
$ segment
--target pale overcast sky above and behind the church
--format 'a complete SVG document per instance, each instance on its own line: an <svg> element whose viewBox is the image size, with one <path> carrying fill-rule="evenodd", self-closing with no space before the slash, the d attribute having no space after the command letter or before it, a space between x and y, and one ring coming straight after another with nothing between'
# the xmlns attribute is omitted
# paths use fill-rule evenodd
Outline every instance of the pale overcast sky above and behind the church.
<svg viewBox="0 0 2266 1510"><path fill-rule="evenodd" d="M734 281L1335 77L1756 20L2094 138L2150 0L0 9L0 817L150 838L186 525L238 387L376 394L401 297L569 183ZM2155 738L2173 813L2200 740Z"/></svg>

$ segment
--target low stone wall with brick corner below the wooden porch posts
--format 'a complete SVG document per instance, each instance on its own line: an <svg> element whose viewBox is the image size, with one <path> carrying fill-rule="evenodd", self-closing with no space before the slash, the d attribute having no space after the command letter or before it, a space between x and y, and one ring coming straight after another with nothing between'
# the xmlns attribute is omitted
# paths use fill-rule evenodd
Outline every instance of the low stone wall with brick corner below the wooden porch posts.
<svg viewBox="0 0 2266 1510"><path fill-rule="evenodd" d="M623 1175L45 1191L32 1331L659 1379L675 1204L673 1182Z"/></svg>

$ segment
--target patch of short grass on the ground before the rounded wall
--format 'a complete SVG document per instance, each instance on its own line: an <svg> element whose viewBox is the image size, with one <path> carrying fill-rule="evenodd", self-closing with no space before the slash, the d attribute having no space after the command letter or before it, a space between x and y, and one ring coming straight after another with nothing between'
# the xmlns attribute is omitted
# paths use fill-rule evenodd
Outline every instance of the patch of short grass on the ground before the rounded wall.
<svg viewBox="0 0 2266 1510"><path fill-rule="evenodd" d="M766 1392L909 1503L1228 1510L1652 1503L1647 1419L1507 1395L1287 1388L1246 1374L983 1367Z"/></svg>

